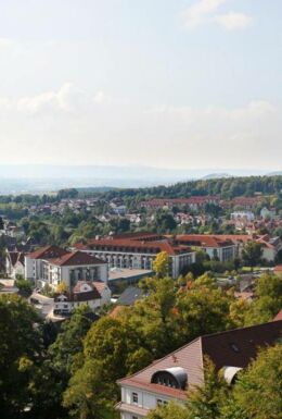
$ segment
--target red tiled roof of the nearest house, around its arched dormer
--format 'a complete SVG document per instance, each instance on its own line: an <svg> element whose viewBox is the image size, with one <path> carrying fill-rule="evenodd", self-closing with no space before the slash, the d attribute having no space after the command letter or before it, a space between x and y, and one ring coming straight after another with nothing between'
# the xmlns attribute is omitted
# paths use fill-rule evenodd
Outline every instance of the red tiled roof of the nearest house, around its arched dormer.
<svg viewBox="0 0 282 419"><path fill-rule="evenodd" d="M157 371L180 367L187 372L188 389L191 389L204 381L205 356L211 359L217 370L223 367L245 368L256 357L259 347L275 344L281 334L282 320L279 320L200 336L136 374L119 380L118 383L184 399L187 397L185 391L153 384L151 383L152 375Z"/></svg>

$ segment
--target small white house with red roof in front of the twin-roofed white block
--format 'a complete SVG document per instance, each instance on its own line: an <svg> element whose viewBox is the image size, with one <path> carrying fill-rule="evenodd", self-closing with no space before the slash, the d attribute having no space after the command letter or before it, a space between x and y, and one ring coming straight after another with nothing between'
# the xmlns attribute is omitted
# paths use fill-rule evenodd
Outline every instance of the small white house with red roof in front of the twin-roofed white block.
<svg viewBox="0 0 282 419"><path fill-rule="evenodd" d="M93 312L111 301L111 291L103 282L78 281L70 292L56 294L54 297L54 315L69 315L80 305L87 305Z"/></svg>

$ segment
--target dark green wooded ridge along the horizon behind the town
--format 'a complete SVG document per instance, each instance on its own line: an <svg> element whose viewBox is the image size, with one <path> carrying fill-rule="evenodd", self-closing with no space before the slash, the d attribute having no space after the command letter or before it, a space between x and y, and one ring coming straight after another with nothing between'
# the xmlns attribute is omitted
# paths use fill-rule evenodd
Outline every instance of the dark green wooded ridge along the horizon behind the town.
<svg viewBox="0 0 282 419"><path fill-rule="evenodd" d="M198 180L179 182L169 186L154 186L143 188L65 188L56 194L43 195L1 195L0 204L41 205L60 201L66 198L97 197L105 200L113 198L142 199L150 198L184 198L190 196L218 195L229 199L238 196L278 195L282 192L282 175L280 176L244 176L214 180Z"/></svg>

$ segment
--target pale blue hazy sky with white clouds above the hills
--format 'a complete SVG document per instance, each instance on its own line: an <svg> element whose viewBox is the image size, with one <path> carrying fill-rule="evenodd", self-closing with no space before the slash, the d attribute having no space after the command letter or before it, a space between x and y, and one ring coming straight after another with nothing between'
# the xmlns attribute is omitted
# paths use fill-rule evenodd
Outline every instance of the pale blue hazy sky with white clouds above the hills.
<svg viewBox="0 0 282 419"><path fill-rule="evenodd" d="M281 0L0 0L1 164L281 156Z"/></svg>

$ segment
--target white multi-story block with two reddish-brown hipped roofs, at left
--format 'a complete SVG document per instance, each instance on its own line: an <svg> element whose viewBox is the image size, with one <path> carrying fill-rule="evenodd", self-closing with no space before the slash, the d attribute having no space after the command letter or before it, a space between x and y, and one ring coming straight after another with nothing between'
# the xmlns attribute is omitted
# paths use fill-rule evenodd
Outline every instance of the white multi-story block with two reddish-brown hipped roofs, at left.
<svg viewBox="0 0 282 419"><path fill-rule="evenodd" d="M65 282L70 289L78 281L107 283L107 264L84 251L66 251L56 246L46 246L26 255L25 278L39 287L48 284L53 289Z"/></svg>

